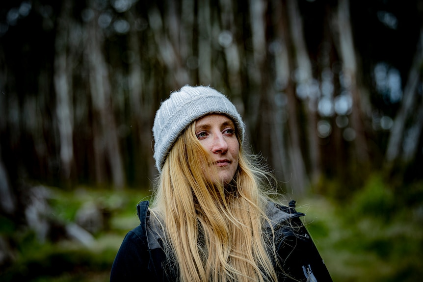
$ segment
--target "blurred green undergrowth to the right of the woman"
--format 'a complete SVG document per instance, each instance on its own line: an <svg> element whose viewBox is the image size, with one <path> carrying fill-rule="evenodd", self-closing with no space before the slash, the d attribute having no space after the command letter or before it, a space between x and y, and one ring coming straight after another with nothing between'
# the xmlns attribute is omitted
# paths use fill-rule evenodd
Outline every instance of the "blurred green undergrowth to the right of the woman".
<svg viewBox="0 0 423 282"><path fill-rule="evenodd" d="M305 223L334 281L420 281L423 185L403 189L394 192L375 176L342 203L299 201L307 203L298 209L307 213Z"/></svg>

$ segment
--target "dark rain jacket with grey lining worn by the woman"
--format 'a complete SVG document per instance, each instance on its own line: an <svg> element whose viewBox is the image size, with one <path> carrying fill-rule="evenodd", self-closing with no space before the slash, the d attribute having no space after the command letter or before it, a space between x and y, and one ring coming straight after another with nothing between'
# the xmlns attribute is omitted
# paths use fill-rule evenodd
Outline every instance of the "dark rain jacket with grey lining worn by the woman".
<svg viewBox="0 0 423 282"><path fill-rule="evenodd" d="M275 233L282 236L276 245L283 267L283 271L277 271L278 281L331 282L313 240L299 219L304 214L297 212L294 204L291 201L287 207L270 203L266 212ZM148 224L148 205L148 201L137 205L140 225L125 236L113 262L110 282L178 280L169 274L170 271L164 270L166 256L160 245L161 239Z"/></svg>

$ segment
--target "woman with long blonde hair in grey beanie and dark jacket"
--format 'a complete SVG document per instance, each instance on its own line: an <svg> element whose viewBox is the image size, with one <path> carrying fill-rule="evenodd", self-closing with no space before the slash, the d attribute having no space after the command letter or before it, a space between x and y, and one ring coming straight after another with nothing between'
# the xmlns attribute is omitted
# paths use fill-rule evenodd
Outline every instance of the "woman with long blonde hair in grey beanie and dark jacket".
<svg viewBox="0 0 423 282"><path fill-rule="evenodd" d="M184 86L153 126L159 170L153 205L113 262L110 281L332 281L291 206L245 153L236 107L211 87Z"/></svg>

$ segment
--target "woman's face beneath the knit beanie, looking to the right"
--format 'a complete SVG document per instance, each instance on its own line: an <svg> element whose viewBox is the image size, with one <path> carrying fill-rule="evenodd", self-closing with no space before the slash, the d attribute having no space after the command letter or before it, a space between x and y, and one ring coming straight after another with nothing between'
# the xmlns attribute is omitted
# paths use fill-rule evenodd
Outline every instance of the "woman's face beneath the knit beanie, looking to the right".
<svg viewBox="0 0 423 282"><path fill-rule="evenodd" d="M234 122L225 115L210 114L196 121L195 135L209 151L212 165L224 183L229 183L238 168L239 143Z"/></svg>

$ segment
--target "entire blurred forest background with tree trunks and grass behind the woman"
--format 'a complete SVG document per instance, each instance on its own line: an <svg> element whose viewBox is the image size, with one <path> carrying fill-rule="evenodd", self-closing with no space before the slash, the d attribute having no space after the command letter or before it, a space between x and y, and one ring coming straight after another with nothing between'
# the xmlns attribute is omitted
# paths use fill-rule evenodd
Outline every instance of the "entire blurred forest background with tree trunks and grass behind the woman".
<svg viewBox="0 0 423 282"><path fill-rule="evenodd" d="M0 6L0 280L108 281L185 84L237 105L335 281L423 274L422 0Z"/></svg>

